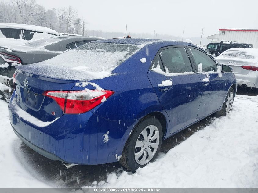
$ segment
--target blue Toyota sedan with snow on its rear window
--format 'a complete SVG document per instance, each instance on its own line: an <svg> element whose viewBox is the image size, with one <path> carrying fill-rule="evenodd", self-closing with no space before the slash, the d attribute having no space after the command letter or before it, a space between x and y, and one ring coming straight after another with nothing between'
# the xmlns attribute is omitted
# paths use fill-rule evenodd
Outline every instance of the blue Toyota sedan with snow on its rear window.
<svg viewBox="0 0 258 193"><path fill-rule="evenodd" d="M237 89L230 67L180 41L93 41L16 69L13 131L67 168L144 167L162 140L215 112L226 116Z"/></svg>

